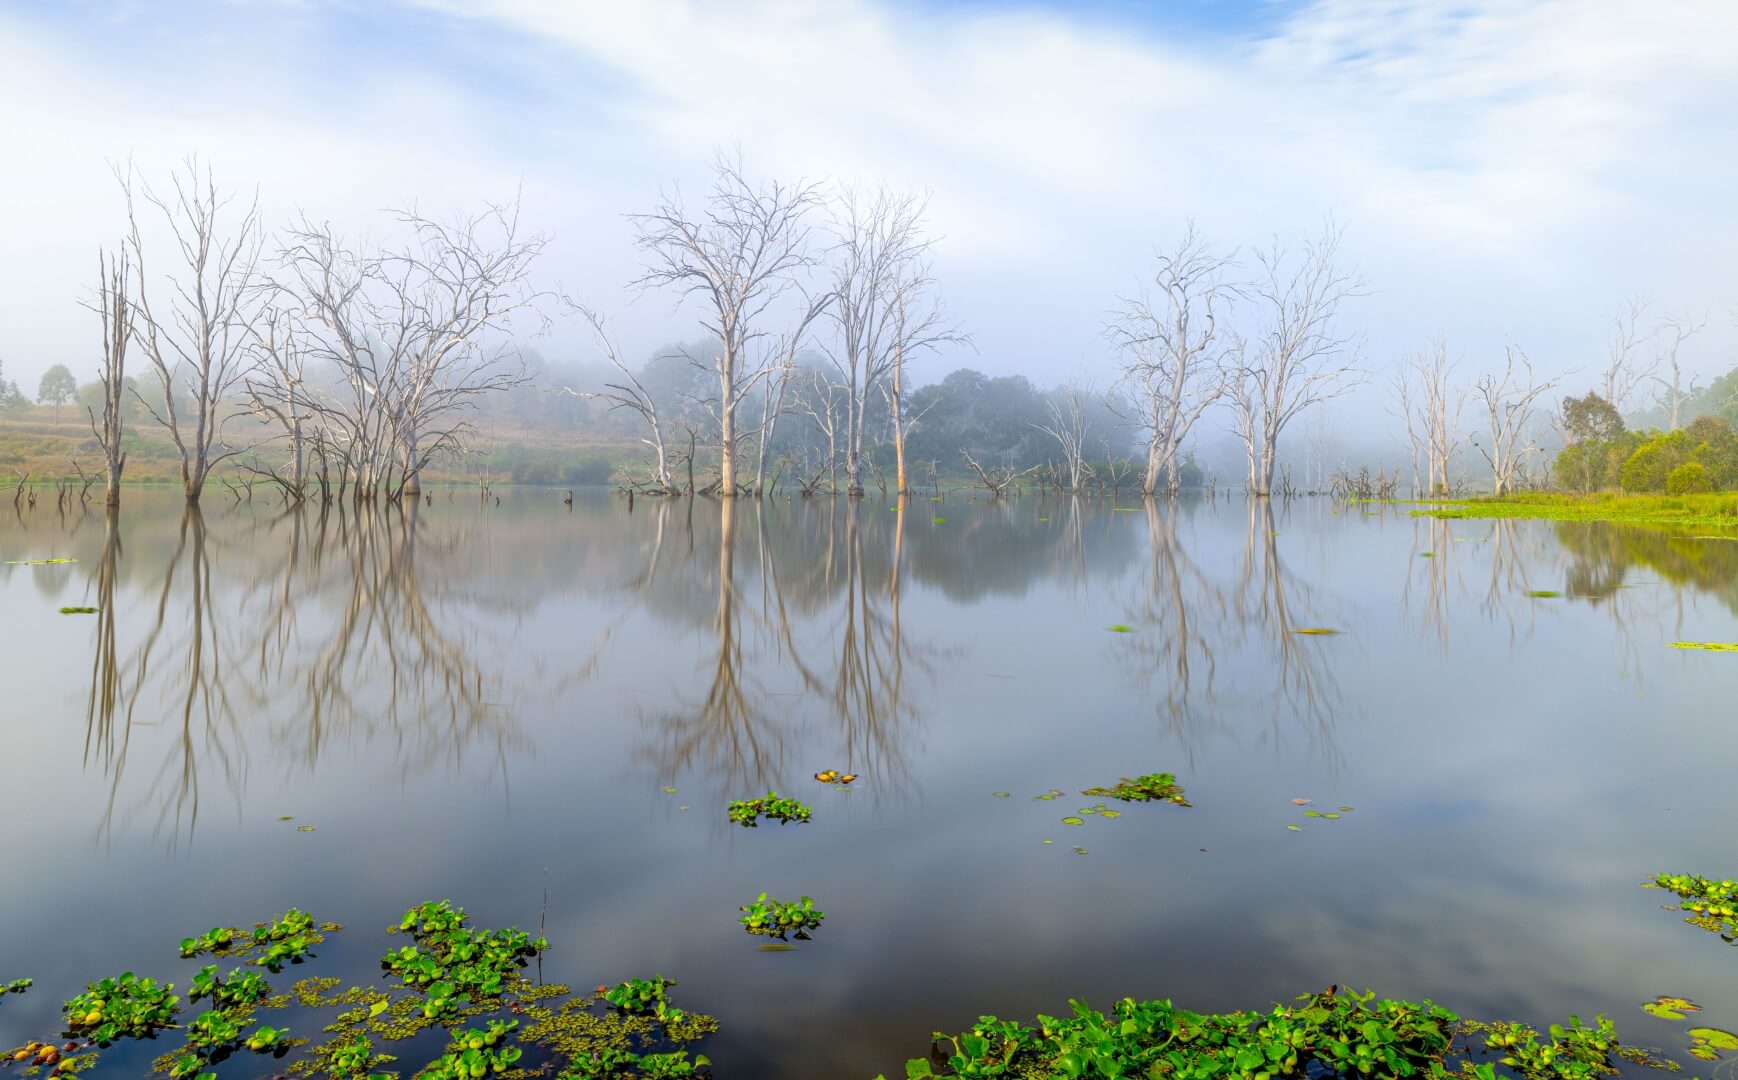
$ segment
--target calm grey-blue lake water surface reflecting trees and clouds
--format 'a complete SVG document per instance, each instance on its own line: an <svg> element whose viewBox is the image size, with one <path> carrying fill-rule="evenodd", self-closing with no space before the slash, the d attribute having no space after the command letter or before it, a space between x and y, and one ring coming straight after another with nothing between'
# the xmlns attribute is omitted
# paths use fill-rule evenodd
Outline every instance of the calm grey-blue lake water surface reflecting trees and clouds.
<svg viewBox="0 0 1738 1080"><path fill-rule="evenodd" d="M3 1045L292 904L349 927L318 974L374 979L440 897L546 918L546 977L676 977L720 1077L1330 983L1606 1012L1696 1073L1639 1003L1738 1028L1738 953L1637 887L1738 871L1738 656L1667 647L1738 640L1738 544L1326 501L209 503L0 517L5 560L76 560L0 567L0 981L36 981ZM1194 807L1062 824L1156 770ZM768 788L813 823L726 823ZM813 896L815 941L758 951L760 890Z"/></svg>

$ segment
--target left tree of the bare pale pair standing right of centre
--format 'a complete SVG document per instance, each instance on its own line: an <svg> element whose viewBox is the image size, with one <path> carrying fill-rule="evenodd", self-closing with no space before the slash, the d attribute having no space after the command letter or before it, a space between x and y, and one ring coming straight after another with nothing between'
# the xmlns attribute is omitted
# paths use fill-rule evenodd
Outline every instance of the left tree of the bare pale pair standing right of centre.
<svg viewBox="0 0 1738 1080"><path fill-rule="evenodd" d="M1175 477L1189 430L1236 383L1232 341L1218 325L1239 296L1237 285L1225 280L1232 266L1231 256L1215 254L1191 221L1177 247L1159 256L1152 275L1158 299L1147 292L1124 297L1109 327L1123 355L1118 384L1147 433L1144 494L1158 490L1161 475Z"/></svg>

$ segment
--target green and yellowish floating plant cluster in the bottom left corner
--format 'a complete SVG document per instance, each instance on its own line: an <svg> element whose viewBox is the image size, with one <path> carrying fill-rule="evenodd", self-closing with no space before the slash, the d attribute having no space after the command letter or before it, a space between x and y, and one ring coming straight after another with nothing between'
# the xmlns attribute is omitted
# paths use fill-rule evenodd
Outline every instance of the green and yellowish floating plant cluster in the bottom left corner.
<svg viewBox="0 0 1738 1080"><path fill-rule="evenodd" d="M464 910L447 901L412 908L388 930L408 934L412 944L382 957L381 967L391 976L386 988L344 988L339 979L309 977L275 995L257 969L275 972L285 962L301 962L322 932L339 929L292 910L252 930L214 927L186 937L182 957L250 958L249 967L228 974L207 965L193 976L188 1002L205 1002L205 1012L179 1019L181 998L170 983L123 972L87 984L66 1002L64 1037L73 1042L33 1040L7 1050L5 1057L28 1077L52 1070L50 1077L70 1080L94 1070L99 1054L115 1042L179 1031L182 1045L151 1063L176 1080L212 1080L219 1063L242 1052L295 1057L287 1068L242 1068L240 1073L335 1080L391 1075L384 1071L389 1064L396 1075L421 1080L525 1077L532 1073L520 1063L532 1052L549 1061L535 1073L563 1080L700 1077L702 1066L709 1066L704 1056L678 1047L716 1031L718 1021L674 1007L667 993L673 979L627 979L614 990L600 986L589 997L575 997L561 984L534 984L521 969L547 948L542 937L516 929L473 929ZM0 990L23 986L28 981ZM600 1005L612 1009L600 1014ZM320 1023L328 1038L311 1045L313 1040L292 1037L282 1023L257 1023L261 1009L292 1007L325 1014ZM398 1063L388 1052L395 1042L441 1030L445 1047L433 1061L424 1050L421 1068L417 1061Z"/></svg>

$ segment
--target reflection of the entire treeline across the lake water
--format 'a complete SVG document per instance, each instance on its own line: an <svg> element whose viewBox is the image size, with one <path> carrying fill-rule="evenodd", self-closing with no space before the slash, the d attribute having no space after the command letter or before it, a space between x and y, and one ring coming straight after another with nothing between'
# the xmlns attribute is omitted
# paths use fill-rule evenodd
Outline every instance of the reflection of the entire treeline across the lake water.
<svg viewBox="0 0 1738 1080"><path fill-rule="evenodd" d="M961 605L1015 598L1043 605L1038 638L1058 633L1055 612L1107 598L1133 628L1111 638L1111 668L1147 689L1189 760L1215 739L1302 739L1335 760L1361 708L1342 685L1354 645L1297 631L1350 630L1316 562L1385 527L1345 513L1343 539L1326 541L1330 518L1286 517L1310 504L1270 501L447 506L207 520L146 503L64 525L21 511L9 544L57 537L85 562L38 567L31 588L59 597L76 572L101 609L82 758L108 781L99 835L137 817L179 843L210 798L240 812L250 769L315 776L355 755L389 755L405 777L474 774L506 797L539 718L622 680L634 757L659 783L740 793L838 767L871 793L907 791L942 673L1003 668ZM1634 588L1632 567L1738 612L1738 544L1616 527L1415 518L1397 584L1413 633L1446 656L1458 607L1514 647L1540 617L1535 593L1561 581L1608 614L1639 670L1651 642L1632 626L1682 628L1686 593Z"/></svg>

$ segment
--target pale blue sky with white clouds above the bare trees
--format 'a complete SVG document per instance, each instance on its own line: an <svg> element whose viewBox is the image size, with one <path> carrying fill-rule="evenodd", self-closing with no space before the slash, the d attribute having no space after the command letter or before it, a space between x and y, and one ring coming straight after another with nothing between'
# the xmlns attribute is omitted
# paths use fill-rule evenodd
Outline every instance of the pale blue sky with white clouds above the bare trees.
<svg viewBox="0 0 1738 1080"><path fill-rule="evenodd" d="M695 337L627 289L626 214L692 197L720 148L760 177L930 195L972 334L923 362L1112 376L1104 323L1192 217L1225 250L1330 216L1370 294L1370 386L1436 334L1462 372L1521 343L1595 383L1632 296L1689 313L1702 381L1738 363L1731 0L0 0L0 362L90 379L80 306L125 224L109 163L189 153L294 212L386 231L521 198L539 283L627 355ZM534 343L589 358L558 320Z"/></svg>

